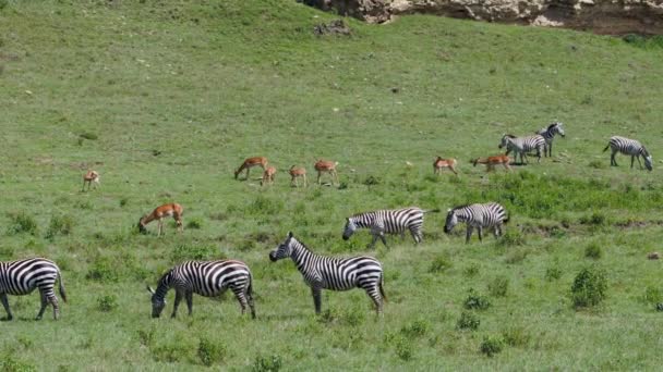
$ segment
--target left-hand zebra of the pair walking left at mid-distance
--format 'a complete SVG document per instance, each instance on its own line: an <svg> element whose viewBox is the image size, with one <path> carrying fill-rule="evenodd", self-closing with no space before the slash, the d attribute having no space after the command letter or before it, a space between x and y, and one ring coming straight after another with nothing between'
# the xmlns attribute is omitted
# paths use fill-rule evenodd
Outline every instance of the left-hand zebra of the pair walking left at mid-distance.
<svg viewBox="0 0 663 372"><path fill-rule="evenodd" d="M414 244L420 244L423 239L421 234L423 215L427 212L439 212L439 209L424 211L418 207L409 207L354 214L346 220L343 240L348 240L358 228L371 228L373 240L369 245L369 248L375 247L377 238L387 247L385 233L400 234L401 237L405 237L406 230L409 230Z"/></svg>

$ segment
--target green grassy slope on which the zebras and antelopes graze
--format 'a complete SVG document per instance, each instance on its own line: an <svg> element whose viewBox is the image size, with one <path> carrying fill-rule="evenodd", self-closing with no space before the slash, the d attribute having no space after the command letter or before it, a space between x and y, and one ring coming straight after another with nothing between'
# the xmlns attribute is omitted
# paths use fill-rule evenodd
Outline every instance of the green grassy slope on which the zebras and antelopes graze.
<svg viewBox="0 0 663 372"><path fill-rule="evenodd" d="M35 322L38 296L10 297L3 370L660 368L661 263L647 253L663 224L663 49L417 15L313 35L333 18L286 0L0 0L0 260L55 260L70 300ZM469 162L554 120L567 136L552 159L489 175ZM608 166L612 135L647 145L654 171ZM433 176L438 154L459 177ZM279 169L275 185L233 179L252 156ZM320 158L339 162L340 187L289 187L290 165L314 181ZM81 193L87 169L101 187ZM444 213L426 215L421 246L341 239L355 212L489 200L511 215L497 240L445 235ZM184 234L140 235L171 201ZM324 293L314 315L294 265L267 258L288 231L378 258L384 318L361 290ZM257 320L232 296L149 318L146 284L218 258L252 269ZM576 309L584 268L606 298Z"/></svg>

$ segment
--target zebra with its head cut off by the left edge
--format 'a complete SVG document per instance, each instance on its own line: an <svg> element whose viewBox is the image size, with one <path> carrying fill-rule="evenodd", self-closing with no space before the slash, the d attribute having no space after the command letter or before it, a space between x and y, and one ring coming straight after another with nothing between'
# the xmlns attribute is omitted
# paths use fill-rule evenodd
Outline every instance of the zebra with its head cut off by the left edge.
<svg viewBox="0 0 663 372"><path fill-rule="evenodd" d="M43 258L0 262L0 300L4 306L4 311L7 311L7 319L12 320L14 318L9 309L7 295L23 296L31 294L35 288L39 288L41 308L36 320L41 319L48 303L52 305L53 319L58 320L60 308L53 290L58 278L60 280L60 296L67 302L62 275L60 275L60 269L55 262Z"/></svg>

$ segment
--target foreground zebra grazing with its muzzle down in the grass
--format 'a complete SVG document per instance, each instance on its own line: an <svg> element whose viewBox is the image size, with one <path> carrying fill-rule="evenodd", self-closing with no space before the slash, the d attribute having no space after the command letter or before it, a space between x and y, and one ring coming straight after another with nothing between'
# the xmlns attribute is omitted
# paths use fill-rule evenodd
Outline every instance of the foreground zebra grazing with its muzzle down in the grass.
<svg viewBox="0 0 663 372"><path fill-rule="evenodd" d="M152 294L152 318L159 318L161 314L166 307L166 294L170 288L176 290L171 318L176 317L182 297L186 299L189 315L191 315L194 293L204 297L217 297L230 288L242 307L242 314L249 305L251 317L255 319L252 276L244 262L186 261L170 269L159 280L156 290L147 286L147 290Z"/></svg>

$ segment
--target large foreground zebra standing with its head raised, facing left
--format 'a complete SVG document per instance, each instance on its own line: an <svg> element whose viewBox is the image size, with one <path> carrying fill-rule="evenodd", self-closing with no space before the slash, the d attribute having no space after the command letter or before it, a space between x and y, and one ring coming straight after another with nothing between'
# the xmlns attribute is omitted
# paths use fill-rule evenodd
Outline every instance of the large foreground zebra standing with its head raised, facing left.
<svg viewBox="0 0 663 372"><path fill-rule="evenodd" d="M334 258L315 255L297 240L292 233L288 233L286 240L269 252L273 262L288 257L311 287L315 313L320 314L322 289L348 290L359 287L371 297L377 314L382 314L383 299L386 300L387 297L383 289L382 264L376 259L367 256Z"/></svg>

